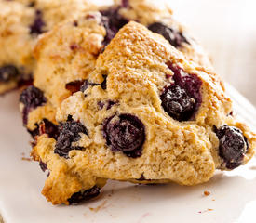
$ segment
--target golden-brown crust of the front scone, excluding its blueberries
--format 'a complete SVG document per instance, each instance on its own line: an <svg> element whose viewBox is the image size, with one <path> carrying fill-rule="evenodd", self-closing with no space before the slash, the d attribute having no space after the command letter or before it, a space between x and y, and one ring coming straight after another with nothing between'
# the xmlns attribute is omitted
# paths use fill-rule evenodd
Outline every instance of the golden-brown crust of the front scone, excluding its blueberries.
<svg viewBox="0 0 256 223"><path fill-rule="evenodd" d="M168 62L195 74L202 81L202 103L195 121L178 122L168 116L159 94L173 75ZM57 121L69 115L88 129L88 136L73 145L82 151L69 152L69 159L54 153L56 140L42 135L33 153L47 164L51 174L43 194L48 201L67 203L78 190L87 190L102 178L141 183L174 181L196 185L209 180L216 168L225 169L219 156L219 140L213 126L236 126L249 142L243 164L254 154L255 134L246 125L228 115L231 100L225 96L219 77L184 58L160 35L151 33L136 22L129 22L115 36L97 59L95 70L88 75L91 83L101 83L107 75L107 89L89 86L61 102ZM86 96L85 96L86 95ZM98 103L118 101L111 109L99 109ZM102 123L115 113L131 113L145 125L146 139L141 157L129 158L111 151L102 136ZM145 180L139 179L143 176ZM64 190L68 184L67 190Z"/></svg>

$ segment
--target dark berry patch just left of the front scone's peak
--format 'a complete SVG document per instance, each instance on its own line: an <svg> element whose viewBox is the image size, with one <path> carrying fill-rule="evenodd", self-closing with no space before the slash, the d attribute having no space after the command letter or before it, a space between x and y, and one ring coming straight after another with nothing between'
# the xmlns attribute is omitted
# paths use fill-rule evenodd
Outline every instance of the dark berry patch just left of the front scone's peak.
<svg viewBox="0 0 256 223"><path fill-rule="evenodd" d="M119 9L120 7L109 7L107 10L101 10L101 20L106 29L104 46L107 46L115 34L128 23L128 20L119 14Z"/></svg>

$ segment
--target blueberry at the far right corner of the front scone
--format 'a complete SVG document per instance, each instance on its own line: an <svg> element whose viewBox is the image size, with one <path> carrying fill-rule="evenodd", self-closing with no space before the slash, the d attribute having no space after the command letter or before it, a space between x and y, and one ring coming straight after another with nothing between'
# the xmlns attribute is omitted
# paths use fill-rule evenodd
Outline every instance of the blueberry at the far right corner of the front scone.
<svg viewBox="0 0 256 223"><path fill-rule="evenodd" d="M234 169L242 164L244 155L248 151L247 138L240 129L234 126L223 125L215 132L219 138L219 155L228 169Z"/></svg>

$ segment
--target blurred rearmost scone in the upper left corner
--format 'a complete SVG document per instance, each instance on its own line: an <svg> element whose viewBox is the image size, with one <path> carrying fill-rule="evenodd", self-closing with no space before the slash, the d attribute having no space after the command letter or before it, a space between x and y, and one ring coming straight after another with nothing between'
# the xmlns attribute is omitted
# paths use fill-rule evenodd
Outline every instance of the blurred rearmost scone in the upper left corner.
<svg viewBox="0 0 256 223"><path fill-rule="evenodd" d="M32 78L39 34L90 7L87 0L0 0L0 94Z"/></svg>

